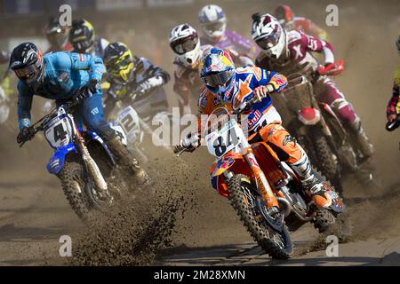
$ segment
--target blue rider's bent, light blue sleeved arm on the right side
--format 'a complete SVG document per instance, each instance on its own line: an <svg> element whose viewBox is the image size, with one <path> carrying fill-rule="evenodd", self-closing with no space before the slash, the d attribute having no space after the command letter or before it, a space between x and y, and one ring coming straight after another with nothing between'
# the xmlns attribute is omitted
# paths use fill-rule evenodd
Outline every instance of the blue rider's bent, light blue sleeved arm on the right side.
<svg viewBox="0 0 400 284"><path fill-rule="evenodd" d="M90 80L101 81L102 75L106 72L103 60L100 57L83 53L67 53L71 61L71 68L75 70L87 70Z"/></svg>

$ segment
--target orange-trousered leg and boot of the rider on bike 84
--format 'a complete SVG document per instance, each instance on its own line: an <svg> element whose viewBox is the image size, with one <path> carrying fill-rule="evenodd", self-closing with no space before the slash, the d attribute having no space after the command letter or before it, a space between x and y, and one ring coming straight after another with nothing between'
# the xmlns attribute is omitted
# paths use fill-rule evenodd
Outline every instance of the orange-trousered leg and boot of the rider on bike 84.
<svg viewBox="0 0 400 284"><path fill-rule="evenodd" d="M268 124L259 131L262 140L267 142L278 155L279 159L292 168L299 177L301 184L309 190L318 209L324 209L332 204L332 199L326 190L329 185L316 177L306 152L289 134L280 122Z"/></svg>

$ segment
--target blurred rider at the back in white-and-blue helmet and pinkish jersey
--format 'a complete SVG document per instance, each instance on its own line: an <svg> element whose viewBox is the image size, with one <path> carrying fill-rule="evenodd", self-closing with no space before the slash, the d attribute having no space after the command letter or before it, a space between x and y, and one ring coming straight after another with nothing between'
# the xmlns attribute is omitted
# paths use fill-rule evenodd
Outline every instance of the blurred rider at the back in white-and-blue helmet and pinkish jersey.
<svg viewBox="0 0 400 284"><path fill-rule="evenodd" d="M204 6L198 13L198 19L204 34L200 37L202 44L228 50L236 66L254 65L253 59L260 51L258 46L244 36L227 29L227 17L220 6L214 4Z"/></svg>

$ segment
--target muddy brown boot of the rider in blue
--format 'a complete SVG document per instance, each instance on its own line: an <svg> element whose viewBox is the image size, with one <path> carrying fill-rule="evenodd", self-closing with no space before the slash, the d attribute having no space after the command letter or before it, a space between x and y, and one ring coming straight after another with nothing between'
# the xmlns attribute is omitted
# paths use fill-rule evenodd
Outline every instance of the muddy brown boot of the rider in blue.
<svg viewBox="0 0 400 284"><path fill-rule="evenodd" d="M128 166L134 174L135 180L139 185L152 185L153 181L145 170L143 170L139 162L132 157L131 152L124 146L119 136L108 140L107 145L111 152L116 155L116 158L121 162L122 165Z"/></svg>

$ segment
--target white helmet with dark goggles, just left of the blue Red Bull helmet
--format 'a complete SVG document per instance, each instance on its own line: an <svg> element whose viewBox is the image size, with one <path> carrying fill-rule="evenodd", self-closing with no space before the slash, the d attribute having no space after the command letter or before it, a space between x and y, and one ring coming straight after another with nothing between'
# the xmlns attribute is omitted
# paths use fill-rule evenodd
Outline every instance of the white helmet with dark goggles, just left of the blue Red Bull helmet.
<svg viewBox="0 0 400 284"><path fill-rule="evenodd" d="M202 51L195 28L188 24L176 26L171 30L169 41L172 51L178 54L183 64L188 67L198 65Z"/></svg>

